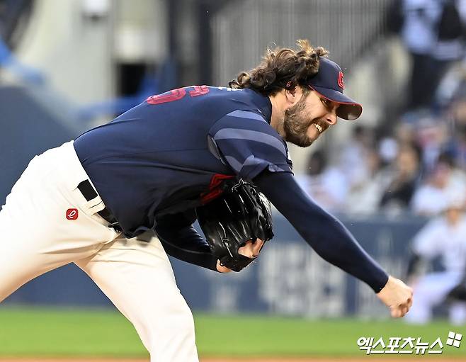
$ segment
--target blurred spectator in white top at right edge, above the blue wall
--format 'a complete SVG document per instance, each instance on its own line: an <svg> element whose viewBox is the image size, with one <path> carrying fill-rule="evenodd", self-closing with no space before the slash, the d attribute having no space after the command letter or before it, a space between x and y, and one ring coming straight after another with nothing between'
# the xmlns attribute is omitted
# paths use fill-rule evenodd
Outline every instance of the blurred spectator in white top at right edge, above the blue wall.
<svg viewBox="0 0 466 362"><path fill-rule="evenodd" d="M447 200L465 192L464 171L454 166L448 154L441 154L427 182L414 193L411 210L417 215L435 216L445 210Z"/></svg>

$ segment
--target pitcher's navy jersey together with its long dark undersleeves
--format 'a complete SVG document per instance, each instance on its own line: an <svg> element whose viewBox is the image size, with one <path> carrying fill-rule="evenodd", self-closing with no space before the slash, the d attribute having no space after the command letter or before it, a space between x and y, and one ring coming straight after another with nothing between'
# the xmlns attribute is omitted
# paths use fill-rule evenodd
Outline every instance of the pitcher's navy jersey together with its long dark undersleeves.
<svg viewBox="0 0 466 362"><path fill-rule="evenodd" d="M387 273L296 183L271 112L269 98L249 89L187 87L149 97L74 147L127 237L151 228L171 256L216 270L217 257L192 226L195 207L224 175L238 175L319 255L380 291Z"/></svg>

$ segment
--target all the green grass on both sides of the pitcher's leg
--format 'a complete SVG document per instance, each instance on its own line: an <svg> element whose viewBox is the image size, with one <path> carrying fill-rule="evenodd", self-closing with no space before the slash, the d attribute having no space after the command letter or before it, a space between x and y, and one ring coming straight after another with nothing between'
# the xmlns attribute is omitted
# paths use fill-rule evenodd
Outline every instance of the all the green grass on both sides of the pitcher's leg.
<svg viewBox="0 0 466 362"><path fill-rule="evenodd" d="M400 321L307 320L288 317L195 314L201 356L363 356L360 336L422 337L433 342L448 331L465 334L459 349L443 354L466 357L466 327L446 322L408 326ZM144 357L132 325L112 310L51 310L0 307L0 356Z"/></svg>

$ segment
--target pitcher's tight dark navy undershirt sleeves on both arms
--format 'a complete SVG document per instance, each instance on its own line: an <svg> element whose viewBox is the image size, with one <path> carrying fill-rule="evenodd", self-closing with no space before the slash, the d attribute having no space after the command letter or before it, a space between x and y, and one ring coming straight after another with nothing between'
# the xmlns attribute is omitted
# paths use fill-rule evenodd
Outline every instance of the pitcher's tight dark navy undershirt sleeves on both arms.
<svg viewBox="0 0 466 362"><path fill-rule="evenodd" d="M387 273L336 217L309 198L291 174L263 171L254 178L254 183L317 254L368 283L375 293L382 290L388 280ZM217 259L192 227L194 220L195 213L187 212L164 217L157 225L159 239L167 254L215 271Z"/></svg>

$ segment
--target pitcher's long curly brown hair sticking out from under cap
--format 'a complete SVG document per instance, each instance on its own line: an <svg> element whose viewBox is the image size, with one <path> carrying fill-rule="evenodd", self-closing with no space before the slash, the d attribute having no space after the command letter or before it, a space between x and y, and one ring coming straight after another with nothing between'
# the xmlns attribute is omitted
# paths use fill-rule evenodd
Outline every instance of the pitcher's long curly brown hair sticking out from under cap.
<svg viewBox="0 0 466 362"><path fill-rule="evenodd" d="M229 82L234 89L254 89L266 96L273 96L282 89L294 89L305 79L319 71L319 57L329 52L323 47L312 47L308 40L297 40L298 50L277 47L268 49L258 67L241 72Z"/></svg>

